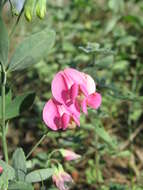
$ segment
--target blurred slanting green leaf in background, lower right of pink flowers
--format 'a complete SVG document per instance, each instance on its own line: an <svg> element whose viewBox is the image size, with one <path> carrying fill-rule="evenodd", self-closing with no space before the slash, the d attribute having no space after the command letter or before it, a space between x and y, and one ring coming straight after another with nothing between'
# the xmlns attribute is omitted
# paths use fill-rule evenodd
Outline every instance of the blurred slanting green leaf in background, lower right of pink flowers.
<svg viewBox="0 0 143 190"><path fill-rule="evenodd" d="M104 127L96 125L94 130L97 133L97 135L106 143L108 143L112 148L117 148L116 144L113 142L111 136L107 133L107 131L105 131Z"/></svg>

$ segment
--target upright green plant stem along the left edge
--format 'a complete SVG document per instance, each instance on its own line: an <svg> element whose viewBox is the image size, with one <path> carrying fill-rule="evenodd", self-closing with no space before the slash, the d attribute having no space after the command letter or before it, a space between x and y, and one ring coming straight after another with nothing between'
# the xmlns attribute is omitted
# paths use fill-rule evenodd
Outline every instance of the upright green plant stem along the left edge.
<svg viewBox="0 0 143 190"><path fill-rule="evenodd" d="M1 113L2 113L2 146L4 152L5 161L8 163L8 151L7 151L7 142L6 142L6 123L5 123L5 86L6 86L6 72L4 66L1 64L1 77L2 77L2 86L1 86Z"/></svg>

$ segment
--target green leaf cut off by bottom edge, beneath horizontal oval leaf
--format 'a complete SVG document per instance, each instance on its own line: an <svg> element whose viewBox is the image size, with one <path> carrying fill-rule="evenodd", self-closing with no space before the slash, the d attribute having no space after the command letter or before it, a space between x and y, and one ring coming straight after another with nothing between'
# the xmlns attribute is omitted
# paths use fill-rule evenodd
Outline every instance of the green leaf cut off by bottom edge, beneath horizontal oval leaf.
<svg viewBox="0 0 143 190"><path fill-rule="evenodd" d="M10 183L10 185L8 186L8 190L34 190L34 188L29 183L16 181Z"/></svg>

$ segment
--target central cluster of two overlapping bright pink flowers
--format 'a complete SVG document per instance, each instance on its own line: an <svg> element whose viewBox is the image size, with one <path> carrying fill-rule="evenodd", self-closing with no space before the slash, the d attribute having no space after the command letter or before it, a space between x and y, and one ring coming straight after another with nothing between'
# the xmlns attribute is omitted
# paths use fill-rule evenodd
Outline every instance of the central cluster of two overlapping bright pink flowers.
<svg viewBox="0 0 143 190"><path fill-rule="evenodd" d="M44 106L43 120L55 131L80 126L80 112L87 114L87 107L98 109L101 105L93 78L72 68L55 75L52 95Z"/></svg>

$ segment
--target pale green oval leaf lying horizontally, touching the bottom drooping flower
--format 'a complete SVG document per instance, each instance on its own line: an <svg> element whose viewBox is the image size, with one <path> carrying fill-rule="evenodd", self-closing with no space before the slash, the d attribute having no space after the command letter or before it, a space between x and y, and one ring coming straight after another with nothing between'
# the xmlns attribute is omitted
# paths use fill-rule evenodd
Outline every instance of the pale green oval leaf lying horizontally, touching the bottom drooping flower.
<svg viewBox="0 0 143 190"><path fill-rule="evenodd" d="M52 168L35 170L26 175L26 182L34 183L44 181L52 176L54 170Z"/></svg>

